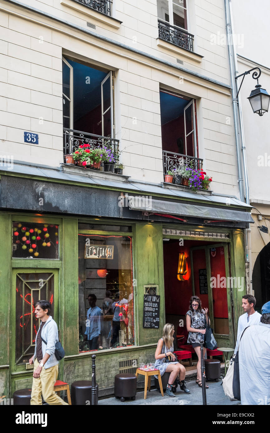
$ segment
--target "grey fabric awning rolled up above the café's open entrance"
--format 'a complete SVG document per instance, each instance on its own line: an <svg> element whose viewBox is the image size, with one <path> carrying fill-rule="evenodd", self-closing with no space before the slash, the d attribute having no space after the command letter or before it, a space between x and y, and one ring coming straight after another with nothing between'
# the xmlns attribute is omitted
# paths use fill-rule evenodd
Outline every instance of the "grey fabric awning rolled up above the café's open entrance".
<svg viewBox="0 0 270 433"><path fill-rule="evenodd" d="M204 220L254 223L250 213L244 212L243 210L234 210L230 207L228 207L228 209L222 209L220 207L198 206L197 204L175 203L164 200L151 200L150 203L145 203L145 206L143 206L143 203L136 203L136 197L134 200L130 200L129 207L131 210L141 210L150 213L166 213L178 216L190 216L203 218Z"/></svg>

